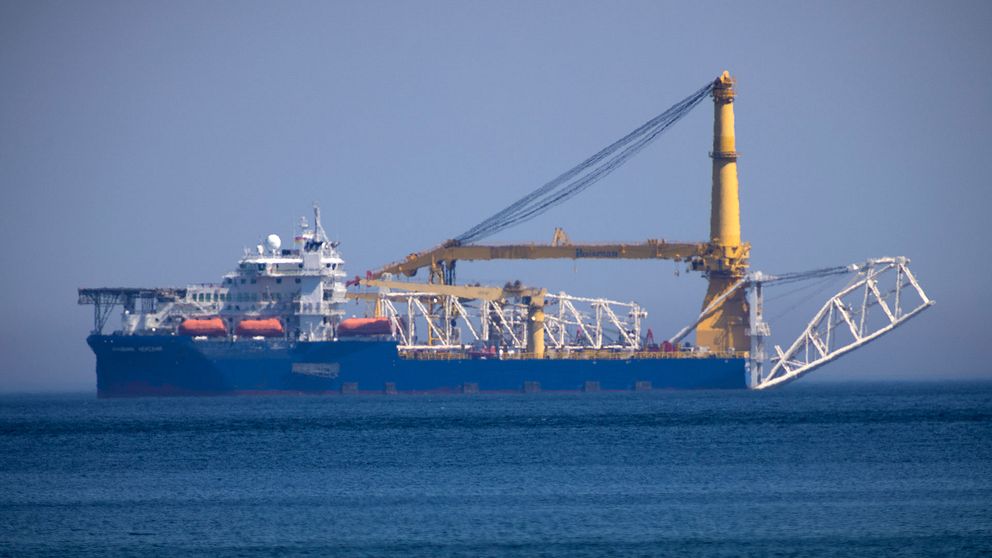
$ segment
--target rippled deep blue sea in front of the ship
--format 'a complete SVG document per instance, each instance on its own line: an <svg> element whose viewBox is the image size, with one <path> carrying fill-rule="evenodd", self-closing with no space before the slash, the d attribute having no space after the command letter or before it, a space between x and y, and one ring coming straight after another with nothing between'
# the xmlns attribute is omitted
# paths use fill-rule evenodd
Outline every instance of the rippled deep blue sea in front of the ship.
<svg viewBox="0 0 992 558"><path fill-rule="evenodd" d="M0 397L0 554L992 552L992 384Z"/></svg>

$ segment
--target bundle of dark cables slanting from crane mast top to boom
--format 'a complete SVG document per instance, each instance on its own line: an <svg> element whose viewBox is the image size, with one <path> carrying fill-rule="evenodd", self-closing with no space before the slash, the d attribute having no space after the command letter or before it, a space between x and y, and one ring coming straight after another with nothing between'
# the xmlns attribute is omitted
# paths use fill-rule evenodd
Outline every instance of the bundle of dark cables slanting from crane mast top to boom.
<svg viewBox="0 0 992 558"><path fill-rule="evenodd" d="M620 168L627 160L657 139L665 130L681 120L713 91L713 87L713 82L707 83L595 155L455 237L454 242L459 245L468 244L491 236L506 228L533 219L578 195Z"/></svg>

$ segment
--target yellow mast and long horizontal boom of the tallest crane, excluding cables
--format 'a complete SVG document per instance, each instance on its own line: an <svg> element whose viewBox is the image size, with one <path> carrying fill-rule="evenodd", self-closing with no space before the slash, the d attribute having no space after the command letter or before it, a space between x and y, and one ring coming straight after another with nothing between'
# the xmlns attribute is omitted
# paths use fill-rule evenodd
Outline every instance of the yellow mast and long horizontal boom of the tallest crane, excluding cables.
<svg viewBox="0 0 992 558"><path fill-rule="evenodd" d="M430 250L410 254L403 261L386 265L372 272L369 278L378 279L387 274L413 277L420 269L428 269L430 283L452 284L455 278L455 265L459 260L675 260L687 263L690 269L702 272L708 278L709 287L703 299L703 308L707 308L713 300L744 277L747 273L750 253L750 244L741 241L740 232L737 152L734 138L734 85L730 74L723 72L714 82L676 104L673 109L677 108L677 111L672 109L666 111L674 118L672 122L666 122L670 125L695 107L707 94L713 97L714 134L713 151L710 154L713 159L713 185L709 241L677 243L648 239L638 243L577 244L568 242L557 234L551 244L479 245L452 239ZM656 136L652 136L651 139L653 137ZM517 204L521 204L526 199L518 201ZM498 215L500 214L496 216ZM719 351L746 349L747 317L747 305L742 293L725 297L719 305L711 308L696 326L697 344Z"/></svg>

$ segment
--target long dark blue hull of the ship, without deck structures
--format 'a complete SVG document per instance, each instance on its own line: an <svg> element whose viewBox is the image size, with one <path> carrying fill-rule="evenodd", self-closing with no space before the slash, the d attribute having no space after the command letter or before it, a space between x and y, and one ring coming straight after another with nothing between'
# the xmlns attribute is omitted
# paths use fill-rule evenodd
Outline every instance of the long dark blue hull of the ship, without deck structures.
<svg viewBox="0 0 992 558"><path fill-rule="evenodd" d="M391 341L91 335L101 397L239 393L746 389L743 358L408 360Z"/></svg>

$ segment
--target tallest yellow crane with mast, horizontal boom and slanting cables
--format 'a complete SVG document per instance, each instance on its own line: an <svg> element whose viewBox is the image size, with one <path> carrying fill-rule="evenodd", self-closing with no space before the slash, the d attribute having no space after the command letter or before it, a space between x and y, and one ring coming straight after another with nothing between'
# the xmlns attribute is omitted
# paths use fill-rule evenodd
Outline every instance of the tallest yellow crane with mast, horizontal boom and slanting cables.
<svg viewBox="0 0 992 558"><path fill-rule="evenodd" d="M713 160L713 176L708 241L679 243L648 239L636 243L573 244L564 231L558 229L550 244L480 245L466 242L529 219L551 205L575 195L581 189L588 187L591 182L622 164L626 160L625 157L636 153L707 95L712 96L714 103L713 150L710 153ZM369 279L379 279L388 275L413 277L419 270L426 268L429 270L429 283L450 285L455 281L455 266L459 260L655 259L685 262L691 270L703 273L709 282L702 303L703 315L696 324L697 345L709 347L714 351L744 350L749 344L748 305L739 286L747 274L751 246L741 240L734 134L735 95L735 81L729 72L724 71L712 83L677 103L659 117L460 237L447 240L429 250L410 254L402 261L370 272L367 277ZM636 135L638 133L640 135ZM621 144L624 141L627 143ZM608 152L610 149L613 151ZM582 175L583 172L587 174ZM586 178L590 176L592 178ZM568 189L555 190L563 184ZM542 201L542 196L547 201Z"/></svg>

